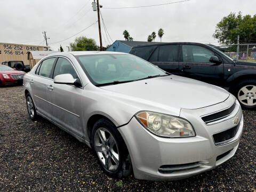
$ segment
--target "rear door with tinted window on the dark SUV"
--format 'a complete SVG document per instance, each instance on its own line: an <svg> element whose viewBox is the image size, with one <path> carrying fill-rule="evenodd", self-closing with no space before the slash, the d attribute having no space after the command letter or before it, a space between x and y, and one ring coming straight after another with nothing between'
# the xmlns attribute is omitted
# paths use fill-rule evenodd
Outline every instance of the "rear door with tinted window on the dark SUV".
<svg viewBox="0 0 256 192"><path fill-rule="evenodd" d="M172 74L179 73L179 44L159 45L149 62Z"/></svg>

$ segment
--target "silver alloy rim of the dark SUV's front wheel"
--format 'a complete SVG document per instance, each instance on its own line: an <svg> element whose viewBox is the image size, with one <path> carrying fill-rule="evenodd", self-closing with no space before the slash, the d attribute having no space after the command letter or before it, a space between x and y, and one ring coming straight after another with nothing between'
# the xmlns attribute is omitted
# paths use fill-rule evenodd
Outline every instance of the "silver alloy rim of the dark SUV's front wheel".
<svg viewBox="0 0 256 192"><path fill-rule="evenodd" d="M256 86L245 85L239 91L237 95L238 100L246 106L256 105Z"/></svg>

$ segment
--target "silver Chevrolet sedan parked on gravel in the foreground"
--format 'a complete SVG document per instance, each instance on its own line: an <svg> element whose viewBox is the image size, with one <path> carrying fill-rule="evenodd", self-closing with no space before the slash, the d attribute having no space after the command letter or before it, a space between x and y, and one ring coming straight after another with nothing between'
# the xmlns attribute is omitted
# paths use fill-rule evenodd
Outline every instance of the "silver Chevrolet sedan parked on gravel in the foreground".
<svg viewBox="0 0 256 192"><path fill-rule="evenodd" d="M29 117L91 147L116 178L176 180L234 156L243 130L236 98L134 55L61 52L24 77Z"/></svg>

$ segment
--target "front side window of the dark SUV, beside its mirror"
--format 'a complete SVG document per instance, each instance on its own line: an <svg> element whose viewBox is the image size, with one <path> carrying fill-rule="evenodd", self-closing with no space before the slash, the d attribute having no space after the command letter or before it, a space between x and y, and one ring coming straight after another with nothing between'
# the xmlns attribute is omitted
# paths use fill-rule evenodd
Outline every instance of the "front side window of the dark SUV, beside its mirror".
<svg viewBox="0 0 256 192"><path fill-rule="evenodd" d="M182 45L183 62L202 62L208 63L214 53L201 46Z"/></svg>

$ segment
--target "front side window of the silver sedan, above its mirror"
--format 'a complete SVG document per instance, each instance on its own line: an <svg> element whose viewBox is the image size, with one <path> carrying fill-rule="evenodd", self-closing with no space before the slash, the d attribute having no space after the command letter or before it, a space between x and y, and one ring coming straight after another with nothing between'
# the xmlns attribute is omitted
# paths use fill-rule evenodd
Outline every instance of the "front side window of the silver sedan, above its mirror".
<svg viewBox="0 0 256 192"><path fill-rule="evenodd" d="M73 78L78 78L72 64L67 59L64 59L64 58L58 58L58 61L56 62L56 65L55 65L53 78L61 74L71 74Z"/></svg>

